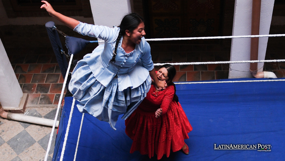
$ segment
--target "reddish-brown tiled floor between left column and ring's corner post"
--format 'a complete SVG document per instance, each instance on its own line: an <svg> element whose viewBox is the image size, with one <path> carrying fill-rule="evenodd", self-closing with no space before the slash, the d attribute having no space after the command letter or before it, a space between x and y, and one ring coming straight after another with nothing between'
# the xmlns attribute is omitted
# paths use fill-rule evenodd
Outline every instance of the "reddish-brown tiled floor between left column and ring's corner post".
<svg viewBox="0 0 285 161"><path fill-rule="evenodd" d="M37 54L38 50L42 53ZM64 79L53 51L46 48L22 49L19 54L11 49L7 52L23 93L29 93L27 106L56 106Z"/></svg>

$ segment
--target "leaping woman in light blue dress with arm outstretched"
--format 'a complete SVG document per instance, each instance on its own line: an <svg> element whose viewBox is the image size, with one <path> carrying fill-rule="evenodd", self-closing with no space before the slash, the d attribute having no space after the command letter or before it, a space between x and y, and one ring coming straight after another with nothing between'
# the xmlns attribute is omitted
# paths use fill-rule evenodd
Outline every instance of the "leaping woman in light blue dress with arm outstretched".
<svg viewBox="0 0 285 161"><path fill-rule="evenodd" d="M138 107L150 89L151 78L157 88L166 82L156 77L150 55L150 45L145 41L143 18L135 13L123 17L119 27L82 23L53 10L46 2L41 8L74 31L105 40L77 62L69 90L78 100L80 112L89 113L107 121L115 129L118 116L122 119Z"/></svg>

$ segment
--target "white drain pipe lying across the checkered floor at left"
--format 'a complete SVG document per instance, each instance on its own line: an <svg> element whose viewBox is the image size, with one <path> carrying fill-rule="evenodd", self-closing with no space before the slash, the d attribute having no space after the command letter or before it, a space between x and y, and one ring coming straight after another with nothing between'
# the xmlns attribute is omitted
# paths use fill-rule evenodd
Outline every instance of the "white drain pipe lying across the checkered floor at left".
<svg viewBox="0 0 285 161"><path fill-rule="evenodd" d="M22 122L28 122L32 124L39 124L39 125L45 125L45 126L53 126L54 120L51 119L45 119L40 117L33 117L33 116L26 116L23 114L14 114L11 112L4 111L1 102L0 102L0 116L8 119L8 120L15 120L15 121L22 121ZM58 127L59 121L56 121L56 127Z"/></svg>

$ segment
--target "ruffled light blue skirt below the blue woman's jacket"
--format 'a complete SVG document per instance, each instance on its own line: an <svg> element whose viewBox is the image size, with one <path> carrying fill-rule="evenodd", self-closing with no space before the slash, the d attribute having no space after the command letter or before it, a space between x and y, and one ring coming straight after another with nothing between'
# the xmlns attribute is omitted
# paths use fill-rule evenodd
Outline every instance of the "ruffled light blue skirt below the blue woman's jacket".
<svg viewBox="0 0 285 161"><path fill-rule="evenodd" d="M117 77L105 87L95 78L85 61L78 63L80 67L73 71L69 90L79 102L79 111L89 113L101 121L107 121L116 130L118 116L124 114L122 119L126 119L146 97L151 84L150 76L136 88L128 87L119 91Z"/></svg>

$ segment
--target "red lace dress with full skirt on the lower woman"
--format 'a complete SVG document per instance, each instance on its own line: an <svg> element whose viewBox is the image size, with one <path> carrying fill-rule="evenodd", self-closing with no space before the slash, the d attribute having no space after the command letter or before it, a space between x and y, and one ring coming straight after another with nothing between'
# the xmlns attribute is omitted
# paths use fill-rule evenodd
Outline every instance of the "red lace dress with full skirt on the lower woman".
<svg viewBox="0 0 285 161"><path fill-rule="evenodd" d="M125 132L133 140L130 153L138 150L150 158L155 153L159 160L164 154L169 157L170 149L173 152L182 149L192 126L180 103L177 105L172 100L173 96L173 85L159 92L151 85L143 102L125 121ZM159 108L162 115L157 119L155 111Z"/></svg>

